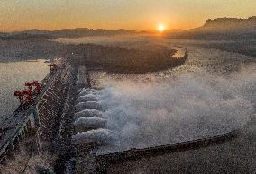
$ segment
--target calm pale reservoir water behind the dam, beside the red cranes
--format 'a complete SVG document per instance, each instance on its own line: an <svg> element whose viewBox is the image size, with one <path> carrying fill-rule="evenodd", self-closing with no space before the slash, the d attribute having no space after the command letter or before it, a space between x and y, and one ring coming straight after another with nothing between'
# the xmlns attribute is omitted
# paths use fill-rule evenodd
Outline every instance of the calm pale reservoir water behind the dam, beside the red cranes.
<svg viewBox="0 0 256 174"><path fill-rule="evenodd" d="M0 63L0 123L19 105L14 91L23 91L27 81L41 80L50 72L45 60Z"/></svg>

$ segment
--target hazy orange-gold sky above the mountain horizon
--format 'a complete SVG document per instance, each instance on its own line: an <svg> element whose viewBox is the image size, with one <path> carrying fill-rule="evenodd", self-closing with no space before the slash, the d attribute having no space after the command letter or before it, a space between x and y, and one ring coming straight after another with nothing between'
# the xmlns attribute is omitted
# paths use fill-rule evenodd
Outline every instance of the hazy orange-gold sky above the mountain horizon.
<svg viewBox="0 0 256 174"><path fill-rule="evenodd" d="M208 18L256 15L256 0L0 0L0 31L188 29Z"/></svg>

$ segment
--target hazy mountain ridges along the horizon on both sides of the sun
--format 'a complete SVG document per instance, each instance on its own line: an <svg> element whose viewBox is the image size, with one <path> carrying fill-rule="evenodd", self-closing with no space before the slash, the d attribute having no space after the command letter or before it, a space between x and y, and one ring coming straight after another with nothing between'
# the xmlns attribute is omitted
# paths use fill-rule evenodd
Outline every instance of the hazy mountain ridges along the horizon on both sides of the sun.
<svg viewBox="0 0 256 174"><path fill-rule="evenodd" d="M61 29L61 30L23 30L1 33L0 39L53 39L79 38L88 36L114 36L122 34L154 34L152 31L105 30L105 29ZM169 38L176 39L256 39L256 16L248 19L216 18L208 19L202 27L191 30L166 30Z"/></svg>

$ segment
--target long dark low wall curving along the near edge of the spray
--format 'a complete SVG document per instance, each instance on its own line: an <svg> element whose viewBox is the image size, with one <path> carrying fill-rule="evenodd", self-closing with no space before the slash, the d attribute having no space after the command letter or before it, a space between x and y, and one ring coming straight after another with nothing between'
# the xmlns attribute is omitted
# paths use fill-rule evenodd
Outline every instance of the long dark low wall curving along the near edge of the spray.
<svg viewBox="0 0 256 174"><path fill-rule="evenodd" d="M191 149L202 148L214 144L222 144L225 141L232 140L239 135L239 130L233 130L223 135L215 135L213 137L206 137L184 143L167 144L144 149L133 148L128 151L114 152L96 156L96 171L98 173L107 173L107 168L113 163L123 161L133 161L145 157L160 155L165 152L182 152Z"/></svg>

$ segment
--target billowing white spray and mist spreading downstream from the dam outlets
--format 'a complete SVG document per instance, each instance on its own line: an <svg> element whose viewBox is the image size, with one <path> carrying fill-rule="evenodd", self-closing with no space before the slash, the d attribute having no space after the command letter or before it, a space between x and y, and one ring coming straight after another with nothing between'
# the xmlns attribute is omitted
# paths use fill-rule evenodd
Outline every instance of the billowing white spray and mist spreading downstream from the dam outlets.
<svg viewBox="0 0 256 174"><path fill-rule="evenodd" d="M227 76L200 70L150 83L108 80L100 100L107 128L118 138L99 152L183 142L244 126L255 117L255 70Z"/></svg>

